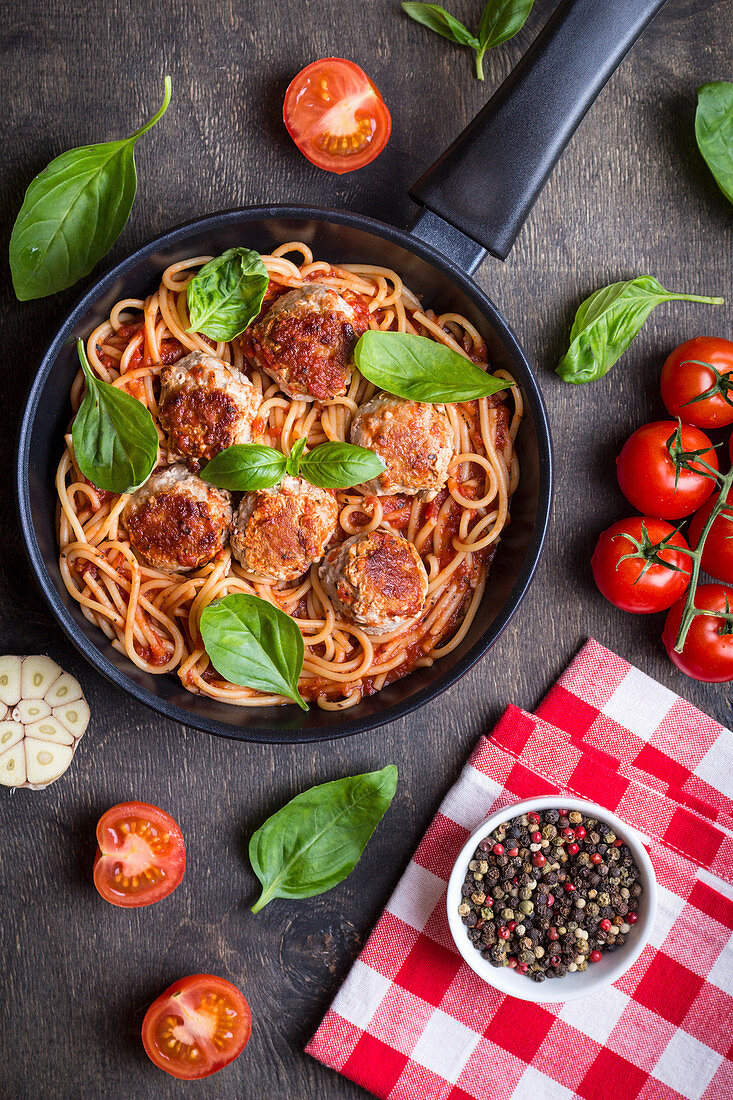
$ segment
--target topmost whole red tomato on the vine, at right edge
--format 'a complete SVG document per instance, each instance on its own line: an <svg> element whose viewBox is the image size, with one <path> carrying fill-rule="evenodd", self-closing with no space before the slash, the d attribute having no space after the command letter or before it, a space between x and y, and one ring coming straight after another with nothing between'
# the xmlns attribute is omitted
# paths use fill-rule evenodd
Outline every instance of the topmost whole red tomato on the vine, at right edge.
<svg viewBox="0 0 733 1100"><path fill-rule="evenodd" d="M733 424L733 343L697 337L680 344L661 369L667 411L698 428ZM702 400L698 398L707 394Z"/></svg>

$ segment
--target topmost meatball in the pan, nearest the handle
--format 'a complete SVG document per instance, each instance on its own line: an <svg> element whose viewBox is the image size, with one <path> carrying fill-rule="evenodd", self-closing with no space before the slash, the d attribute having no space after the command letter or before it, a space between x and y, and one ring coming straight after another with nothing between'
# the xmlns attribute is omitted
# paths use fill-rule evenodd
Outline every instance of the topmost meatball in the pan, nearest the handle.
<svg viewBox="0 0 733 1100"><path fill-rule="evenodd" d="M320 283L284 294L248 332L247 350L288 397L346 394L357 340L369 312Z"/></svg>

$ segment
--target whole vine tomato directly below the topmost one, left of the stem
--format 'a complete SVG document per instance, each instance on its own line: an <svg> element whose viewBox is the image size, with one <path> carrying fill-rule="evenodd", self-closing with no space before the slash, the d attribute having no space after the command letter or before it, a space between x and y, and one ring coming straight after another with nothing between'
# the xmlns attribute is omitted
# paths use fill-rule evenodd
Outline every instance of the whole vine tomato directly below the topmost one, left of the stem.
<svg viewBox="0 0 733 1100"><path fill-rule="evenodd" d="M690 470L680 470L675 486L675 463L667 441L677 431L676 420L645 424L628 437L616 459L621 492L630 504L647 516L659 516L661 519L690 516L715 487L715 482L705 476L704 468L694 459L689 460ZM718 470L718 457L704 432L686 424L679 431L681 449L686 452L701 451L699 458Z"/></svg>

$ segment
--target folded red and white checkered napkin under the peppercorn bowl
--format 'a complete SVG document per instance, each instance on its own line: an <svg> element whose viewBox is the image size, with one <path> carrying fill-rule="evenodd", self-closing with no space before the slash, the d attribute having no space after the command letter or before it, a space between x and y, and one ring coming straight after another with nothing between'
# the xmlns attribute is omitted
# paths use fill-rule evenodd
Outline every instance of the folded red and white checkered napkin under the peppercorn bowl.
<svg viewBox="0 0 733 1100"><path fill-rule="evenodd" d="M592 641L538 715L481 738L307 1052L385 1100L731 1100L733 734ZM462 961L446 883L485 816L557 791L650 837L658 914L614 986L533 1004Z"/></svg>

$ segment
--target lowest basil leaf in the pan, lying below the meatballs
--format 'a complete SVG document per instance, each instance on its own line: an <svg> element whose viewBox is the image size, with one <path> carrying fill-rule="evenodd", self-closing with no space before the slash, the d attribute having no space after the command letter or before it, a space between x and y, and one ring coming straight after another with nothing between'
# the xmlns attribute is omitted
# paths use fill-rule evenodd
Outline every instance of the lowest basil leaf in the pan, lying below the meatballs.
<svg viewBox="0 0 733 1100"><path fill-rule="evenodd" d="M266 600L236 593L201 612L204 648L230 683L307 704L298 692L305 646L296 623Z"/></svg>

